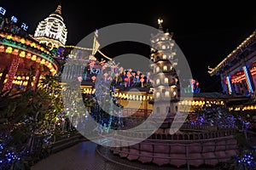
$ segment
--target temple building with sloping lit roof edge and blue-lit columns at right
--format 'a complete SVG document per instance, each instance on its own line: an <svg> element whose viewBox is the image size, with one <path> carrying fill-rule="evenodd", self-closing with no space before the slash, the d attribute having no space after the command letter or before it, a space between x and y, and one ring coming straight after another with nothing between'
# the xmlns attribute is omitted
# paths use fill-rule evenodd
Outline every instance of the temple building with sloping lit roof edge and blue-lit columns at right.
<svg viewBox="0 0 256 170"><path fill-rule="evenodd" d="M256 31L247 37L215 68L211 76L220 76L223 92L235 96L251 96L256 86Z"/></svg>

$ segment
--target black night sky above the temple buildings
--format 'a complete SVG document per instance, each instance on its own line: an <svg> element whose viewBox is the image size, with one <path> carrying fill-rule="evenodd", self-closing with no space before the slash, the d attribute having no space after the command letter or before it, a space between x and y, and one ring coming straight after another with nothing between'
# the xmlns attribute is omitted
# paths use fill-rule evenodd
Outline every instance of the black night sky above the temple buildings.
<svg viewBox="0 0 256 170"><path fill-rule="evenodd" d="M228 5L215 1L168 2L63 0L67 45L77 44L96 29L118 23L139 23L157 28L157 19L161 17L164 28L174 33L173 39L189 61L193 77L200 82L201 92L221 91L219 77L210 77L207 66L218 65L256 29L254 5L246 1ZM53 12L58 3L57 0L0 0L0 6L7 10L6 15L15 15L20 22L25 22L32 35L38 22ZM125 44L117 43L102 51L108 56L127 53L147 55L149 48L137 46L129 49Z"/></svg>

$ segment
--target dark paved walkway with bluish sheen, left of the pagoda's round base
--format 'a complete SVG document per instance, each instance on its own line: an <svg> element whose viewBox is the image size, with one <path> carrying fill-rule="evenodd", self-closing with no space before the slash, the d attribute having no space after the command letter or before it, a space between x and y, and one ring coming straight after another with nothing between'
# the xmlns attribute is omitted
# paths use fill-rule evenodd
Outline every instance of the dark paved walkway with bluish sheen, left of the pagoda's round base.
<svg viewBox="0 0 256 170"><path fill-rule="evenodd" d="M102 170L129 169L115 164L96 152L96 145L86 141L55 153L32 167L32 170Z"/></svg>

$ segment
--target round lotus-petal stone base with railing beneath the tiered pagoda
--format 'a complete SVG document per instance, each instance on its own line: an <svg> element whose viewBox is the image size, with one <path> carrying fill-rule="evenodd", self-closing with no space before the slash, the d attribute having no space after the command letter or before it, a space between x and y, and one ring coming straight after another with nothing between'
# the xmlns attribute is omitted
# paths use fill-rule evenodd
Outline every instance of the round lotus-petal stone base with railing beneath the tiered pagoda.
<svg viewBox="0 0 256 170"><path fill-rule="evenodd" d="M154 163L159 166L171 164L182 167L189 165L216 166L219 162L229 161L237 154L237 142L233 137L234 129L222 129L209 133L154 133L148 139L134 144L136 139L145 137L146 133L119 133L125 135L125 140L119 136L116 145L130 145L113 147L113 154L125 157L130 161ZM129 141L127 141L130 138Z"/></svg>

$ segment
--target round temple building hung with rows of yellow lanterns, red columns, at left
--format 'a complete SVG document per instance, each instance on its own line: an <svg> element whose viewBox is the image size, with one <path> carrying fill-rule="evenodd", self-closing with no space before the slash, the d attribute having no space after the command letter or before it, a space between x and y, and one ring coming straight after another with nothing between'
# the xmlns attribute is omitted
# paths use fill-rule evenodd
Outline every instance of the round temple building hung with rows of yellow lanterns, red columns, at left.
<svg viewBox="0 0 256 170"><path fill-rule="evenodd" d="M0 15L0 91L36 90L44 75L55 75L60 65L54 54Z"/></svg>

